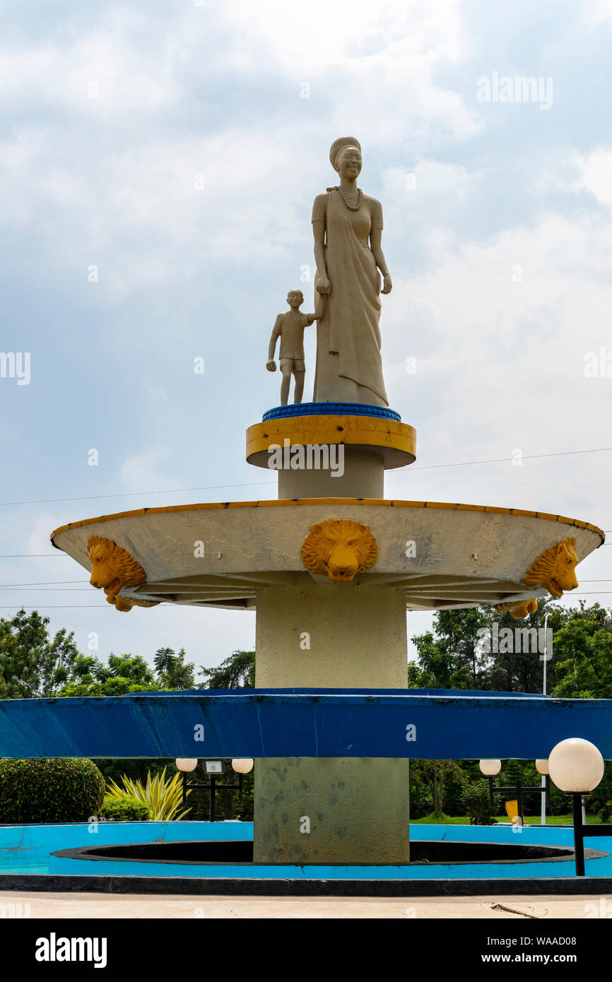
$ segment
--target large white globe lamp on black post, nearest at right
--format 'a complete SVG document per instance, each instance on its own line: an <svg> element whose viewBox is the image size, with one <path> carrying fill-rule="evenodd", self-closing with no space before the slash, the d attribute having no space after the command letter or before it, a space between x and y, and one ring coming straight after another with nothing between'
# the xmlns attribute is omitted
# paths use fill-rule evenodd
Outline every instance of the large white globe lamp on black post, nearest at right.
<svg viewBox="0 0 612 982"><path fill-rule="evenodd" d="M553 784L572 795L576 875L584 876L584 836L612 835L611 825L587 826L583 817L583 794L589 794L601 781L603 757L594 743L572 736L552 748L548 770Z"/></svg>

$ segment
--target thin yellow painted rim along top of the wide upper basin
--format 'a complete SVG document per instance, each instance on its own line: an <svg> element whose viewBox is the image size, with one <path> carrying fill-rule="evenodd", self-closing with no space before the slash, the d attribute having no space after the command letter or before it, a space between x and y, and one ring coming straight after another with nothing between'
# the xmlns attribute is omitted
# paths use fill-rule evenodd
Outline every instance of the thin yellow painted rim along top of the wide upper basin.
<svg viewBox="0 0 612 982"><path fill-rule="evenodd" d="M113 518L136 518L139 515L164 515L174 512L219 511L229 508L286 508L291 505L375 505L387 508L434 508L450 512L486 512L491 515L512 515L519 518L545 518L550 521L563 521L566 524L575 525L577 528L587 528L599 535L602 542L605 539L604 532L589 521L582 521L580 518L567 518L563 515L549 515L546 512L527 512L520 508L497 508L495 505L461 505L433 501L398 501L382 498L281 498L272 501L226 501L203 502L195 505L165 505L159 508L138 508L131 512L115 512L113 515L100 515L97 518L83 518L81 521L69 521L67 525L60 525L59 528L51 532L51 542L55 545L53 539L60 532L67 532L71 528L94 525L100 521L111 521ZM56 548L59 549L59 546Z"/></svg>

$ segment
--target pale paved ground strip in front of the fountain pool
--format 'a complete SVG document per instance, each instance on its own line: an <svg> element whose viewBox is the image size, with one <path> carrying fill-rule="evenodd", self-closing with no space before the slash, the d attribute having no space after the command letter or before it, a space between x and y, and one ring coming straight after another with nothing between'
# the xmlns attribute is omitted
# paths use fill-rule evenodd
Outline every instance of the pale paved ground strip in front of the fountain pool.
<svg viewBox="0 0 612 982"><path fill-rule="evenodd" d="M489 918L612 917L604 897L278 898L37 894L0 891L2 917L100 918Z"/></svg>

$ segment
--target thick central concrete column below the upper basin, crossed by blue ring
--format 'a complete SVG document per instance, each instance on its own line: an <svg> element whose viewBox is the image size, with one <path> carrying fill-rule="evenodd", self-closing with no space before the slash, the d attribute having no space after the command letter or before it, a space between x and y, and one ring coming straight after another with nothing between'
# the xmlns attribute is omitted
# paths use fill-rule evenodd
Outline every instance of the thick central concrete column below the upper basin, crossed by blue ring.
<svg viewBox="0 0 612 982"><path fill-rule="evenodd" d="M257 593L259 688L406 688L406 597L359 583ZM262 758L255 767L254 861L406 863L409 761Z"/></svg>

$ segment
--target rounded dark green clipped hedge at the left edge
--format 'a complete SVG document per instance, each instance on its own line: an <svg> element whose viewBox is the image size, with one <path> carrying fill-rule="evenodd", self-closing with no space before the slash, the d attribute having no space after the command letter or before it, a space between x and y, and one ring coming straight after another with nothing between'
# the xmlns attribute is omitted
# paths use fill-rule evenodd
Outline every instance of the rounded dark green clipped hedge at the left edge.
<svg viewBox="0 0 612 982"><path fill-rule="evenodd" d="M92 760L0 760L0 823L86 822L104 790Z"/></svg>

